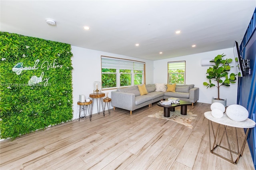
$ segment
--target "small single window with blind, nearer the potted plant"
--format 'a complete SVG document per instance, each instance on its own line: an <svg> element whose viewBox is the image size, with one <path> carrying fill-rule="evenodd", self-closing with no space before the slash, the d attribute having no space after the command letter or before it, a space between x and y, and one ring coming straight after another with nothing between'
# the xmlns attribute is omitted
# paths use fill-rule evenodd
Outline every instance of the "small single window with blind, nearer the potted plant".
<svg viewBox="0 0 256 170"><path fill-rule="evenodd" d="M186 61L168 62L168 83L185 84Z"/></svg>

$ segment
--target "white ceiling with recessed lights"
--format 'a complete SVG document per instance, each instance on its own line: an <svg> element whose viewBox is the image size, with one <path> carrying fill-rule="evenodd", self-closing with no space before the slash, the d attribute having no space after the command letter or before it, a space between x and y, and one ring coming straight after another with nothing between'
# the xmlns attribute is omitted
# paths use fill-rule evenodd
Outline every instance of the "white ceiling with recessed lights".
<svg viewBox="0 0 256 170"><path fill-rule="evenodd" d="M158 60L240 44L255 7L256 0L0 0L0 31Z"/></svg>

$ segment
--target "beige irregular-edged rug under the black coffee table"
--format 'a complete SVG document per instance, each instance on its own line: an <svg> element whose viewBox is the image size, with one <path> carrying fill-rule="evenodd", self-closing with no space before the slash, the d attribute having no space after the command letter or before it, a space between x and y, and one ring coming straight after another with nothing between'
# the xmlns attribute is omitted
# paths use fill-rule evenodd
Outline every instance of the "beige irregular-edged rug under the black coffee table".
<svg viewBox="0 0 256 170"><path fill-rule="evenodd" d="M194 128L191 125L191 122L193 119L196 119L196 118L193 116L197 116L197 115L194 115L193 113L189 112L189 110L187 111L187 115L181 115L180 109L175 109L174 112L170 112L170 117L164 117L164 109L161 109L160 111L156 112L154 115L149 115L148 117L167 119L167 120L174 121L174 122L180 123L182 125L185 125L188 128Z"/></svg>

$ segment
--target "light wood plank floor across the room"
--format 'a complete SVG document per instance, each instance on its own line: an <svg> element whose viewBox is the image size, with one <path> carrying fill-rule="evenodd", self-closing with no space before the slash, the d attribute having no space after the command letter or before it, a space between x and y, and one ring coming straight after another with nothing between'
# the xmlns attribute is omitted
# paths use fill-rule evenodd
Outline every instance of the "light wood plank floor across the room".
<svg viewBox="0 0 256 170"><path fill-rule="evenodd" d="M161 109L153 103L130 115L130 111L116 108L105 117L92 115L91 122L89 118L75 120L1 141L0 169L254 170L247 143L238 164L210 153L204 117L210 104L188 106L197 115L193 129L148 117ZM244 136L243 129L239 128L238 136Z"/></svg>

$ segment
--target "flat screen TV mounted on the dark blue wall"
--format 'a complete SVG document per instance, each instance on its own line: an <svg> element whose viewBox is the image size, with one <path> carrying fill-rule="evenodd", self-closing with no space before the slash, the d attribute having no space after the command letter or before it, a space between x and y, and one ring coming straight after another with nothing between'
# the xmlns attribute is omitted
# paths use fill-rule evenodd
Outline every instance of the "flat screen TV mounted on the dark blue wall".
<svg viewBox="0 0 256 170"><path fill-rule="evenodd" d="M234 57L235 57L235 61L236 61L236 69L237 69L238 76L243 77L243 76L245 76L244 70L243 70L243 62L244 61L240 55L239 46L236 41L234 41L233 52L234 52Z"/></svg>

